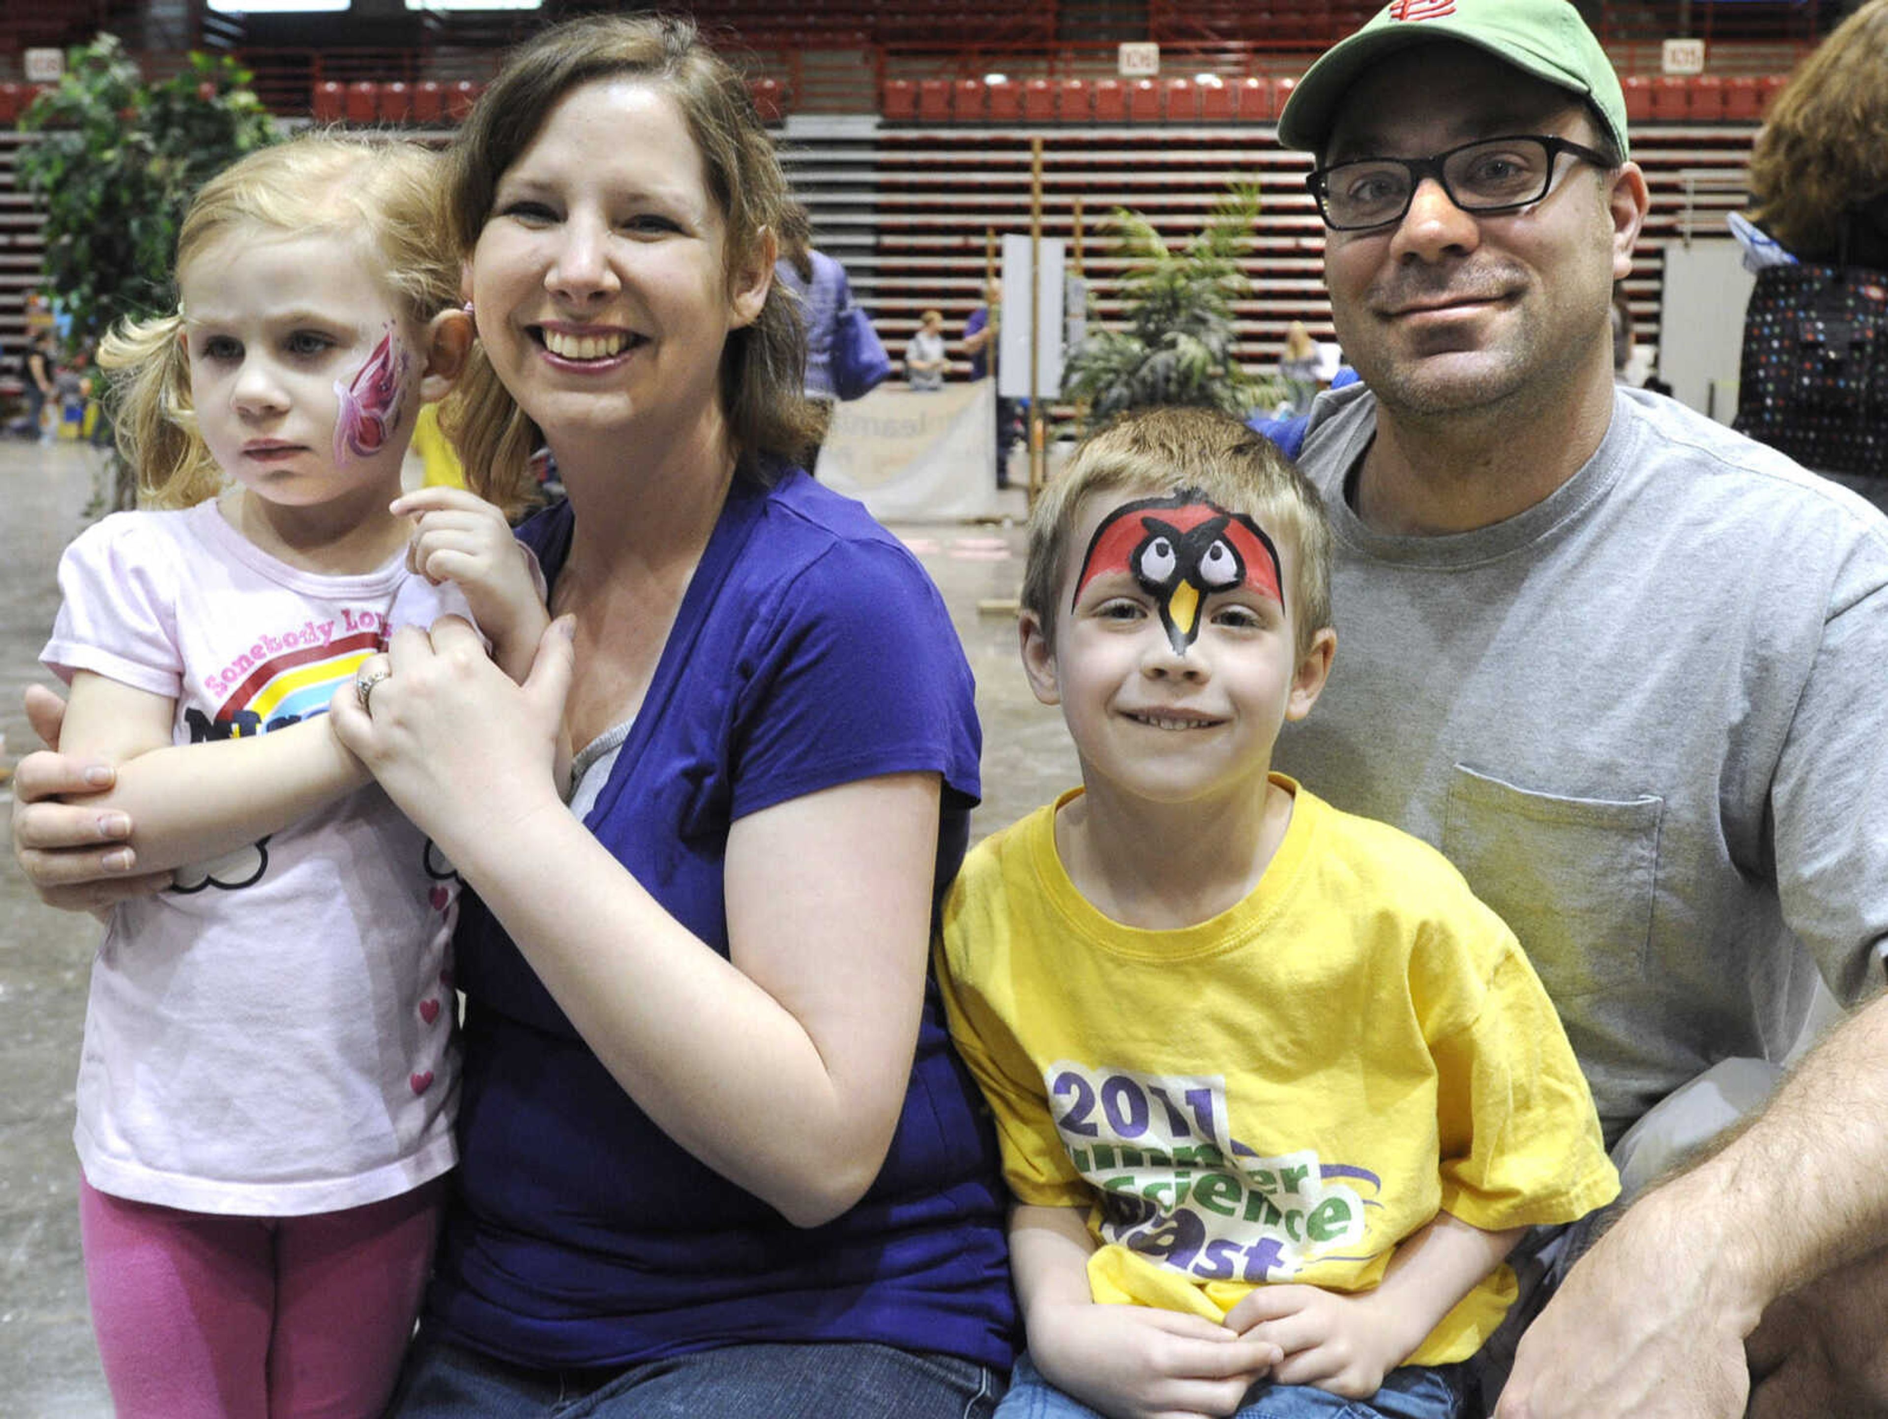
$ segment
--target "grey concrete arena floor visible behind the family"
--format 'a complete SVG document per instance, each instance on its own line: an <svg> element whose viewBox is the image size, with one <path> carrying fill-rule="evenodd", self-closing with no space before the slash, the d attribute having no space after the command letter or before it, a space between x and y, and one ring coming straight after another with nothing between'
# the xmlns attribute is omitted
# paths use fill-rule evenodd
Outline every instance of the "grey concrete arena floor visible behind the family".
<svg viewBox="0 0 1888 1419"><path fill-rule="evenodd" d="M59 553L85 523L94 455L70 443L0 442L0 732L4 762L32 747L21 713L53 625ZM1014 498L1021 517L1021 492ZM901 526L944 589L978 681L984 806L978 836L1052 798L1076 777L1061 717L1029 694L1016 623L978 602L1014 598L1021 528ZM11 794L0 785L0 811ZM100 927L49 911L0 864L0 1415L110 1415L85 1310L72 1153L72 1081Z"/></svg>

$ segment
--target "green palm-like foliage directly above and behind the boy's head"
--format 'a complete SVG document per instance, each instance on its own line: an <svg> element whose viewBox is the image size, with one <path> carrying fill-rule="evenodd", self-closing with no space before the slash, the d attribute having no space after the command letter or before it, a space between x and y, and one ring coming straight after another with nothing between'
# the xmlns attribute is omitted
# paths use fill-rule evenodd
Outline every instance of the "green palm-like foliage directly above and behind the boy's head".
<svg viewBox="0 0 1888 1419"><path fill-rule="evenodd" d="M1276 396L1233 359L1233 302L1252 289L1242 262L1257 215L1259 189L1235 185L1176 251L1146 217L1116 209L1116 251L1131 262L1121 277L1125 328L1089 325L1063 372L1063 398L1089 406L1089 426L1150 404L1244 419Z"/></svg>

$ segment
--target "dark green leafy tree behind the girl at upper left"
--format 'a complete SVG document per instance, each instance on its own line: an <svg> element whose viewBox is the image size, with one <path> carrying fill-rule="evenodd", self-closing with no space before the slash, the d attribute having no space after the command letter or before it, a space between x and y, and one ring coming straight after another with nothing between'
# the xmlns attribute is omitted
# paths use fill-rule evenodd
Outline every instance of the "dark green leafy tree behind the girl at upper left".
<svg viewBox="0 0 1888 1419"><path fill-rule="evenodd" d="M19 177L45 213L42 289L89 345L121 319L172 309L177 226L206 177L276 142L276 123L232 58L191 55L145 83L115 36L66 55L55 89L21 115L38 142L19 149ZM130 506L136 481L111 462L102 502Z"/></svg>

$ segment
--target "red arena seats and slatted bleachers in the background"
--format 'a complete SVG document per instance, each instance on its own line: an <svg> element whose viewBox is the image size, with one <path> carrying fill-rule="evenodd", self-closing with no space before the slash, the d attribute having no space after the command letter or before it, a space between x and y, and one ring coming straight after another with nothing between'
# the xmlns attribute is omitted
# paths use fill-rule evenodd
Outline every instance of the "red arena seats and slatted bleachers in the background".
<svg viewBox="0 0 1888 1419"><path fill-rule="evenodd" d="M1322 30L1348 32L1365 9L1314 0L1269 0L1267 8L1244 0L1148 0L1148 30L1169 23L1191 28L1161 40L1163 77L1125 81L1114 74L1112 38L1055 38L1055 17L1069 15L1063 0L965 0L950 9L929 0L804 0L785 11L768 4L770 32L757 21L763 0L708 4L719 4L729 17L744 13L755 26L740 32L751 60L750 92L765 121L780 123L795 106L814 115L880 113L884 126L874 138L861 142L853 128L846 157L833 159L829 174L810 177L808 191L821 240L842 249L887 345L902 343L929 304L953 323L969 313L982 283L986 234L1027 226L1031 136L1050 145L1050 234L1072 238L1074 202L1086 204L1084 259L1101 292L1103 319L1114 274L1101 232L1106 213L1131 206L1148 211L1169 236L1184 238L1235 175L1256 175L1265 202L1254 255L1259 291L1240 311L1242 357L1263 362L1276 353L1288 309L1322 311L1322 228L1299 185L1303 157L1280 153L1269 126L1293 89L1291 75L1323 43ZM1620 9L1607 6L1609 23ZM1214 26L1235 23L1259 26L1263 40L1210 38ZM808 34L818 45L808 43ZM887 45L887 34L901 36L904 47ZM1767 58L1760 68L1752 58L1760 51L1712 40L1712 74L1692 77L1658 74L1656 38L1633 45L1612 49L1626 75L1633 155L1648 172L1654 211L1629 292L1641 334L1654 340L1660 242L1680 226L1716 230L1722 209L1741 202L1750 136L1803 45L1773 43L1762 51ZM825 62L851 60L850 77L814 81L819 55L812 49L825 49ZM257 68L259 92L266 79L264 96L278 113L425 130L464 119L483 89L480 77L468 75L489 74L497 53L491 60L455 55L440 62L438 55L395 51L238 49L238 58ZM1008 77L974 77L995 70ZM857 92L840 92L836 85L844 83ZM0 125L17 121L36 92L34 85L0 81ZM834 92L844 104L831 102ZM921 143L906 145L906 138L919 136ZM836 194L827 200L825 226L821 181L831 181ZM872 198L859 198L863 191ZM1684 204L1701 209L1682 219ZM17 215L25 219L28 208L23 200ZM0 340L21 319L15 311L36 281L36 226L9 226L0 242L8 253L0 257ZM1327 334L1316 321L1312 328Z"/></svg>

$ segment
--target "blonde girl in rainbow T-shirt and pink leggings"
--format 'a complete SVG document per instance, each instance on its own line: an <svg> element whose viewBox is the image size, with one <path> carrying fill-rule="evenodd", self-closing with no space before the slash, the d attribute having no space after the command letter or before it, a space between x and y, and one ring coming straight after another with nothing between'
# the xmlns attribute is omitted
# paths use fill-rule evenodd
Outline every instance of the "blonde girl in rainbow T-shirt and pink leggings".
<svg viewBox="0 0 1888 1419"><path fill-rule="evenodd" d="M330 730L387 636L470 613L531 662L534 562L400 498L470 343L436 159L304 138L213 177L176 315L106 340L143 509L85 530L42 659L168 891L113 910L77 1081L119 1415L381 1410L455 1162L457 879Z"/></svg>

